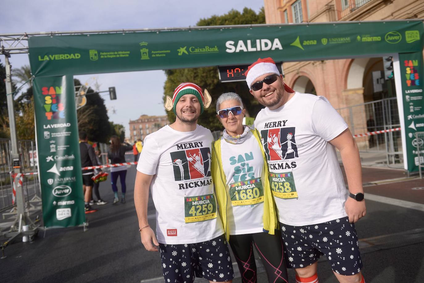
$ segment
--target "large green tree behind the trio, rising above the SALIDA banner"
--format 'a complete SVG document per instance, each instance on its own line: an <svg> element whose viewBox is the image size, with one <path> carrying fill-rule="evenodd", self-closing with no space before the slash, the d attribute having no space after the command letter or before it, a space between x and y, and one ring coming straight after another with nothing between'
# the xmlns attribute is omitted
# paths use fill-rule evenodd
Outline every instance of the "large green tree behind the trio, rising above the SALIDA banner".
<svg viewBox="0 0 424 283"><path fill-rule="evenodd" d="M250 8L244 8L240 13L237 10L231 10L222 16L214 15L212 17L201 19L197 25L247 25L265 23L265 12L262 8L258 14ZM207 89L212 97L212 104L205 109L204 113L199 117L198 123L211 131L223 129L222 124L216 118L216 100L218 96L224 92L236 92L243 100L246 116L255 117L260 109L263 108L249 92L244 81L232 83L220 83L217 67L187 68L176 70L165 70L167 79L164 86L164 103L166 95L172 97L175 88L182 82L190 81L198 84L202 89ZM168 119L173 122L175 114L171 110L167 113Z"/></svg>

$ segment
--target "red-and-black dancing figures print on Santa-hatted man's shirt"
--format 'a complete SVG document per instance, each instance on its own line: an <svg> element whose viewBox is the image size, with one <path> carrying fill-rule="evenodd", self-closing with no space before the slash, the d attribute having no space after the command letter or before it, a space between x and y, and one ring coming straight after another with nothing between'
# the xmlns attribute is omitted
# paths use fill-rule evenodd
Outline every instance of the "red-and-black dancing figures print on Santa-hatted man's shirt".
<svg viewBox="0 0 424 283"><path fill-rule="evenodd" d="M261 131L262 145L268 160L287 160L299 157L296 127L265 129Z"/></svg>

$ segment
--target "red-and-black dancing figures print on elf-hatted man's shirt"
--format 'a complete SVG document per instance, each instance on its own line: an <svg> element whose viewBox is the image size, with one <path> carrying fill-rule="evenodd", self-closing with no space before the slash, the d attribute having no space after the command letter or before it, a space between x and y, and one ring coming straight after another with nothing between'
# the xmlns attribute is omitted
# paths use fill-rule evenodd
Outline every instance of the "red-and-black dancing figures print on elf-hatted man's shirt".
<svg viewBox="0 0 424 283"><path fill-rule="evenodd" d="M187 149L171 152L174 178L176 181L211 176L210 149Z"/></svg>

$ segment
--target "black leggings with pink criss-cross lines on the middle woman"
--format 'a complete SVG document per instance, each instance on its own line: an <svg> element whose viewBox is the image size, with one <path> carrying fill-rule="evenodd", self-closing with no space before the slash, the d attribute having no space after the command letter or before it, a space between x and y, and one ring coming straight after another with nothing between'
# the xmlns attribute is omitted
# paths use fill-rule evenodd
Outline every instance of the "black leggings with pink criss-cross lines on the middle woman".
<svg viewBox="0 0 424 283"><path fill-rule="evenodd" d="M279 230L275 235L254 233L230 235L229 244L236 258L243 283L256 283L257 270L253 245L259 253L270 283L287 283L287 269L284 260L283 243Z"/></svg>

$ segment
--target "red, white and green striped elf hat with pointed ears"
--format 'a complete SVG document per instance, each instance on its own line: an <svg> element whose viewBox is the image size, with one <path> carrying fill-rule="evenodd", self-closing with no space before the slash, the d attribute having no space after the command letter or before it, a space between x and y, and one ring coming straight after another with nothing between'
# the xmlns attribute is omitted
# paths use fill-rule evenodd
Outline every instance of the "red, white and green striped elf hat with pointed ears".
<svg viewBox="0 0 424 283"><path fill-rule="evenodd" d="M202 114L204 108L208 108L212 102L212 98L206 89L203 94L202 89L197 84L182 83L174 90L174 95L172 98L170 98L169 95L166 96L165 109L167 109L168 111L173 109L174 114L176 115L177 113L175 111L175 107L177 105L177 102L181 98L181 96L186 94L192 94L198 98L200 102L200 114Z"/></svg>

